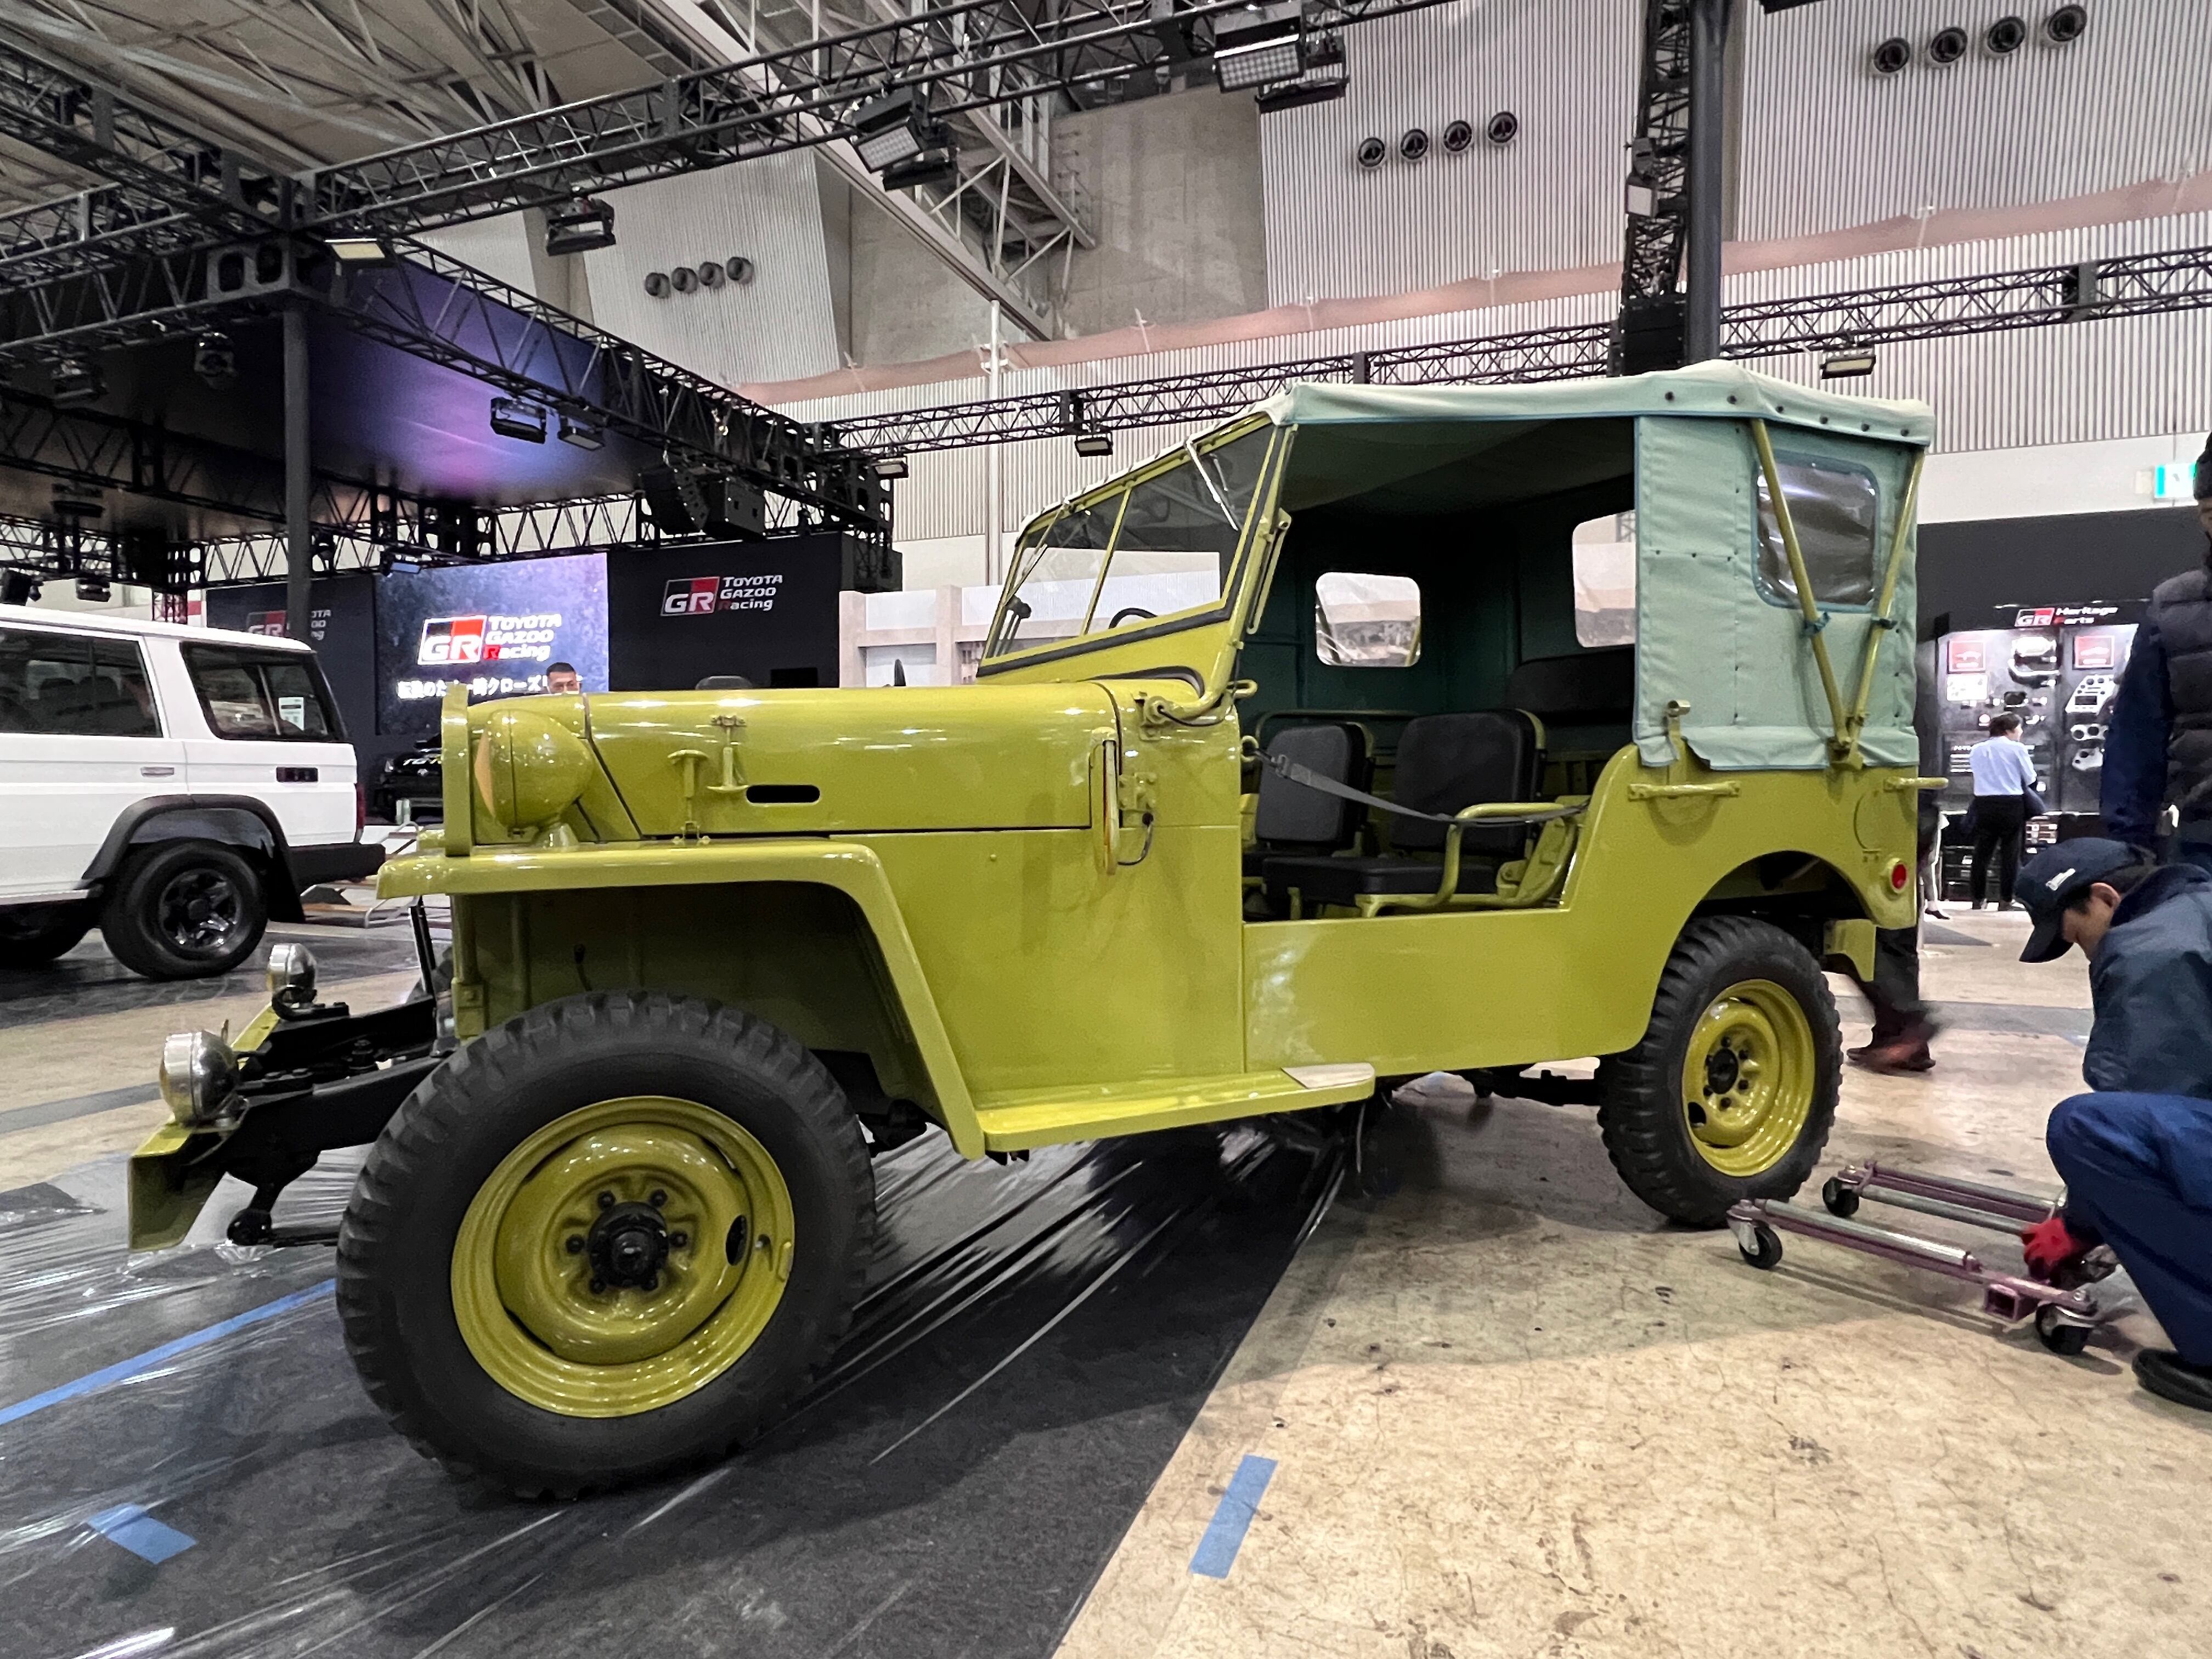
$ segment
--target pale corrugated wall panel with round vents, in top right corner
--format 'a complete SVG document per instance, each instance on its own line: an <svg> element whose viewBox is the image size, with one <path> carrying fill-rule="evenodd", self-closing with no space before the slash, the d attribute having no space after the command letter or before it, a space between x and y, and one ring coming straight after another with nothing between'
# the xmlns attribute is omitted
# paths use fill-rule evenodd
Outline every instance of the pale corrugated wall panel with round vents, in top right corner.
<svg viewBox="0 0 2212 1659"><path fill-rule="evenodd" d="M2088 33L2044 35L2055 0L1832 0L1745 15L1743 239L1798 237L1924 208L2055 201L2212 166L2212 4L2095 0ZM1997 18L2031 24L1993 55ZM1938 29L1971 38L1933 64ZM1869 66L1900 35L1913 62Z"/></svg>

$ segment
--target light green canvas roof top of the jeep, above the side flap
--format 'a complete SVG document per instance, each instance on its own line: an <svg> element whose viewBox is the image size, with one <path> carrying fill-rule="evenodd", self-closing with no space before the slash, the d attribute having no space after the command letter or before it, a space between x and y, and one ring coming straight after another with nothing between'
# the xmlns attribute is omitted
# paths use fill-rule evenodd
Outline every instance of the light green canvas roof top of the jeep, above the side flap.
<svg viewBox="0 0 2212 1659"><path fill-rule="evenodd" d="M1305 380L1259 405L1279 427L1436 420L1584 420L1606 416L1765 416L1774 425L1920 445L1936 438L1924 403L1816 392L1734 363L1546 385L1340 385Z"/></svg>

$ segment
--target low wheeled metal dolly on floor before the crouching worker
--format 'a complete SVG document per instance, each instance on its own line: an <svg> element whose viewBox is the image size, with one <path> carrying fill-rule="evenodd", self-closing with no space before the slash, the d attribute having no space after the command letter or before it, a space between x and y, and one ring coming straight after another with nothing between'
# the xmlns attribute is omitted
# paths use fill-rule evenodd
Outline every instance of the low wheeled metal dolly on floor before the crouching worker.
<svg viewBox="0 0 2212 1659"><path fill-rule="evenodd" d="M1801 1210L1781 1199L1745 1199L1728 1210L1728 1228L1736 1234L1736 1250L1754 1267L1774 1267L1783 1259L1783 1232L1805 1239L1825 1239L1845 1250L1863 1250L1902 1267L1924 1267L1949 1279L1964 1279L1982 1287L1982 1312L2002 1318L2006 1325L2035 1321L2035 1336L2053 1354L2079 1354L2088 1347L2088 1334L2104 1323L2106 1314L2088 1285L2110 1274L2119 1263L2106 1248L2090 1250L2081 1259L2079 1272L2064 1285L2046 1285L2039 1279L1995 1272L1984 1267L1971 1250L1916 1239L1909 1232L1891 1232L1854 1221L1860 1201L1887 1203L1898 1210L1962 1221L1969 1228L2017 1234L2059 1212L2062 1199L2044 1199L2033 1192L2013 1192L2002 1186L1980 1181L1955 1181L1947 1175L1920 1175L1918 1170L1882 1168L1880 1164L1847 1164L1840 1175L1829 1177L1820 1188L1820 1203L1827 1214Z"/></svg>

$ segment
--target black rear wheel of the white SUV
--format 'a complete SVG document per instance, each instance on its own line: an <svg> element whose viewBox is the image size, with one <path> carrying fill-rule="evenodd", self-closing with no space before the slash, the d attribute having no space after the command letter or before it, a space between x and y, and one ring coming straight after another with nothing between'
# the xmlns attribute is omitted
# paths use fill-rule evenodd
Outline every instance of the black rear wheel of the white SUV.
<svg viewBox="0 0 2212 1659"><path fill-rule="evenodd" d="M148 980L228 973L270 920L261 876L215 841L164 841L131 854L100 911L115 960Z"/></svg>

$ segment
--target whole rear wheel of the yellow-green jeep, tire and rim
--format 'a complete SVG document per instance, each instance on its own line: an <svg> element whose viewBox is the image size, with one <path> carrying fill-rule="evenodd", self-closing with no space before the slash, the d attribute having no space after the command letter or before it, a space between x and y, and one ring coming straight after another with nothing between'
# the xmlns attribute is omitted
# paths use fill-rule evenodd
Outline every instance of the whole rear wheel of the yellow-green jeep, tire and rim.
<svg viewBox="0 0 2212 1659"><path fill-rule="evenodd" d="M1836 1121L1843 1035L1820 964L1750 916L1692 920L1659 975L1644 1042L1604 1066L1606 1152L1659 1214L1717 1228L1787 1199Z"/></svg>

